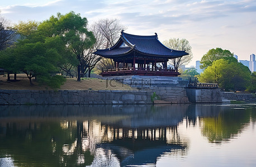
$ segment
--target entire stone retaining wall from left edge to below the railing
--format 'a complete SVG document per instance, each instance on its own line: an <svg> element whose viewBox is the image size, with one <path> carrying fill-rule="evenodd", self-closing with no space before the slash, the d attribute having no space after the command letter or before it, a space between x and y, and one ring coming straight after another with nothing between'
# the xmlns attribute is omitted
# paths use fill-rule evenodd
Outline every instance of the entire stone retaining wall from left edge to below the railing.
<svg viewBox="0 0 256 167"><path fill-rule="evenodd" d="M172 104L221 102L219 89L150 87L150 89L142 89L140 91L60 90L54 92L39 90L0 90L0 105L152 104L151 95L153 95L153 92L160 97L160 100Z"/></svg>

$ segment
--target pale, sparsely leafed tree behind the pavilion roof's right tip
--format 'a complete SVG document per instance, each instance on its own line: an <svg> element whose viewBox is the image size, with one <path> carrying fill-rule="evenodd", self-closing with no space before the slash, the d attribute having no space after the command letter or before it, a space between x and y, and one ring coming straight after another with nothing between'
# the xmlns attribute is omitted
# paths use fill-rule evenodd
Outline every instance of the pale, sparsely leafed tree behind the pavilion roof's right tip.
<svg viewBox="0 0 256 167"><path fill-rule="evenodd" d="M179 40L179 38L170 38L169 40L165 40L163 44L172 50L186 51L189 53L189 55L172 58L169 60L170 65L174 66L176 70L178 70L178 68L182 65L187 65L192 60L192 47L189 45L189 42L186 39Z"/></svg>

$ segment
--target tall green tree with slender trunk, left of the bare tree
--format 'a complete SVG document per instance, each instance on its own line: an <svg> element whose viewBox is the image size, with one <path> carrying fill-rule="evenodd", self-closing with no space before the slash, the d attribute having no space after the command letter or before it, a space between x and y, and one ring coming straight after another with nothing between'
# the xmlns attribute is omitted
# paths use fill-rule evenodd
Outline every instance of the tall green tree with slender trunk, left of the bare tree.
<svg viewBox="0 0 256 167"><path fill-rule="evenodd" d="M87 19L74 12L65 15L58 13L57 17L51 16L44 21L38 29L44 36L61 37L67 50L77 58L77 81L80 81L84 54L96 42L93 33L87 30Z"/></svg>

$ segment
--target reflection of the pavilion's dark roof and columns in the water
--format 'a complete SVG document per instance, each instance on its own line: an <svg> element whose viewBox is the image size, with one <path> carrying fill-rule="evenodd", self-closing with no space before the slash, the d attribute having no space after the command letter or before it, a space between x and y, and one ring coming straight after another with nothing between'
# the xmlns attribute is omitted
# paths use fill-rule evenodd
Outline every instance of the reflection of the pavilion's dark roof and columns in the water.
<svg viewBox="0 0 256 167"><path fill-rule="evenodd" d="M177 125L169 127L112 127L113 140L98 146L111 149L121 166L155 164L157 159L176 150L186 154L187 141L181 139ZM107 132L105 133L107 135Z"/></svg>

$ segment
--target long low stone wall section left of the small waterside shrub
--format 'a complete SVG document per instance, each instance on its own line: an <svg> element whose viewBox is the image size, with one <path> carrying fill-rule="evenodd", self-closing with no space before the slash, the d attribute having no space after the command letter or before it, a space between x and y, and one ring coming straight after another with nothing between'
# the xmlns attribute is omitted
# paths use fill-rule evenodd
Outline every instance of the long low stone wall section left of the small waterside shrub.
<svg viewBox="0 0 256 167"><path fill-rule="evenodd" d="M0 105L48 104L150 104L147 91L0 90Z"/></svg>

